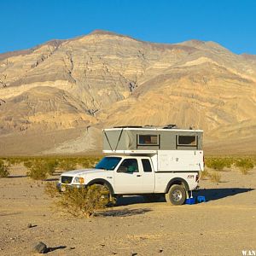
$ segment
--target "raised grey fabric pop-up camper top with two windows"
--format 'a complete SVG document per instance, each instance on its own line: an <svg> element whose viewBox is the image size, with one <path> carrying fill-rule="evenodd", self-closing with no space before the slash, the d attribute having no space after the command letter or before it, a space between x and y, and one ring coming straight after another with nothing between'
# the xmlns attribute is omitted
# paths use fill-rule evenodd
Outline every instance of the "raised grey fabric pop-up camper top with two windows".
<svg viewBox="0 0 256 256"><path fill-rule="evenodd" d="M202 150L201 130L176 125L119 126L103 130L103 153L155 154L159 150Z"/></svg>

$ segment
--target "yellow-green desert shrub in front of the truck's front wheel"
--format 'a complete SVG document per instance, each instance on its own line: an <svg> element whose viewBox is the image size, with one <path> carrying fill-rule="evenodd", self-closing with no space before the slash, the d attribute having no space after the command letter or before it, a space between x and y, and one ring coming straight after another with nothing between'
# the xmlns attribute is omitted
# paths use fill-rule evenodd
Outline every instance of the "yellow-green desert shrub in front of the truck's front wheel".
<svg viewBox="0 0 256 256"><path fill-rule="evenodd" d="M58 192L55 185L50 183L45 192L57 199L55 206L62 212L74 217L90 217L98 210L104 209L108 204L106 190L102 186L92 185L88 188L72 188L64 192Z"/></svg>

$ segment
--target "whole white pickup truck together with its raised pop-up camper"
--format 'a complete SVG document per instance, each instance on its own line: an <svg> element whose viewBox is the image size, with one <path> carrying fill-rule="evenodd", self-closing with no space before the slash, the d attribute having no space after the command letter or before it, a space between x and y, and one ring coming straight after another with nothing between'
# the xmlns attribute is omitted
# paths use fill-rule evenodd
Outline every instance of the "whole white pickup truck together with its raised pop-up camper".
<svg viewBox="0 0 256 256"><path fill-rule="evenodd" d="M97 184L111 199L143 195L156 201L166 195L172 205L182 205L189 191L197 189L204 169L201 130L122 126L103 130L104 157L94 169L61 174L58 187Z"/></svg>

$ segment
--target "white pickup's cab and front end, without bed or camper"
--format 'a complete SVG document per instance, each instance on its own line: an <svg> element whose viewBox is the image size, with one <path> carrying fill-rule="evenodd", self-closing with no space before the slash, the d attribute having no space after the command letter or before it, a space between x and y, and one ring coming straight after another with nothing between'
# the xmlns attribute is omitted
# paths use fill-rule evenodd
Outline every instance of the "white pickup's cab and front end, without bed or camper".
<svg viewBox="0 0 256 256"><path fill-rule="evenodd" d="M154 167L148 156L109 155L104 157L95 169L64 172L61 183L68 185L80 182L108 184L115 195L154 193ZM76 183L73 183L76 182ZM77 186L78 187L78 186Z"/></svg>

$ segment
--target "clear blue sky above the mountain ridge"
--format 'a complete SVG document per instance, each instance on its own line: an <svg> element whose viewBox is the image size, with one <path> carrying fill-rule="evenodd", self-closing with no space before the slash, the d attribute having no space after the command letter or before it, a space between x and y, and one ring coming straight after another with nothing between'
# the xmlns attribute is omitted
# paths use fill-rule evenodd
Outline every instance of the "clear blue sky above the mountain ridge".
<svg viewBox="0 0 256 256"><path fill-rule="evenodd" d="M214 41L256 55L254 0L0 0L0 53L96 29L144 41Z"/></svg>

